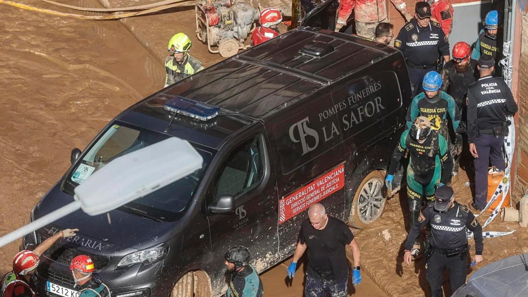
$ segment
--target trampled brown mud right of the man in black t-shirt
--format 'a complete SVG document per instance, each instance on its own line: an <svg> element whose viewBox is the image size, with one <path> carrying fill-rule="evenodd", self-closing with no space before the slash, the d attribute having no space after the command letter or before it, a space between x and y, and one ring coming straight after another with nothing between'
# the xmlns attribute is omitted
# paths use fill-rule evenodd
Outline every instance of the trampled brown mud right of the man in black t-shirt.
<svg viewBox="0 0 528 297"><path fill-rule="evenodd" d="M467 156L465 158L468 160ZM467 161L463 162L463 164L465 163ZM470 187L465 186L465 183L468 182L466 172L460 169L459 176L459 180L453 185L456 201L467 206L468 203L472 202L472 191ZM411 267L403 263L403 244L407 239L405 226L408 224L407 221L404 222L404 217L407 220L407 211L407 197L400 191L399 195L388 201L385 212L378 221L366 229L352 229L352 231L360 245L362 269L386 294L394 297L418 297L424 294L428 296L429 286L425 280L423 260L413 262ZM481 225L484 224L489 214L485 212L478 217ZM502 222L501 218L497 216L483 231L507 232L510 231L507 229L508 227L516 231L511 235L484 239L484 261L473 266L472 269L468 268L468 277L473 271L491 262L528 252L528 232L526 228L521 228L518 223ZM385 229L388 229L391 236L389 241L383 239L382 233ZM517 238L521 246L517 242ZM468 267L475 255L473 239L469 240L469 244L472 247L470 250L471 259L468 257ZM450 291L447 280L448 277L445 275L444 292Z"/></svg>

